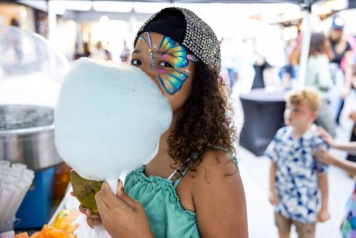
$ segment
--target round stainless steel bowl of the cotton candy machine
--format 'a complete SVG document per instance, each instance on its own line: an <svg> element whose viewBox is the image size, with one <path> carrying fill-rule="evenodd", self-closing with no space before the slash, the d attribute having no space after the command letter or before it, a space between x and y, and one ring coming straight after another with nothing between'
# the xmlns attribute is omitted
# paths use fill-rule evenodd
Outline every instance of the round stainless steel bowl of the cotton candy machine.
<svg viewBox="0 0 356 238"><path fill-rule="evenodd" d="M31 170L63 162L54 145L53 113L41 105L0 105L0 160Z"/></svg>

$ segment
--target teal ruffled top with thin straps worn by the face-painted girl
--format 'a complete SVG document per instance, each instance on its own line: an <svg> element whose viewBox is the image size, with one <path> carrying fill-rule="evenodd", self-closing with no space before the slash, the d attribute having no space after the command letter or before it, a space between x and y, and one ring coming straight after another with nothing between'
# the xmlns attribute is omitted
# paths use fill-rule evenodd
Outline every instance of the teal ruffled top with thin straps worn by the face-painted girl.
<svg viewBox="0 0 356 238"><path fill-rule="evenodd" d="M237 165L237 160L234 157ZM184 172L182 175L184 176ZM182 177L183 177L182 176ZM145 166L138 167L125 178L125 192L145 209L151 232L160 237L200 237L197 215L184 209L174 183L163 177L145 175Z"/></svg>

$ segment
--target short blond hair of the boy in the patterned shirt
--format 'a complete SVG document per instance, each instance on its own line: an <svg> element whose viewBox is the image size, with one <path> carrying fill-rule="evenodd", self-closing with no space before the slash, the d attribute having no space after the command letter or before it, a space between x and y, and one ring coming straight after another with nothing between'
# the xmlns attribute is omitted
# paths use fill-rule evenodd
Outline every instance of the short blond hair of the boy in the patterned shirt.
<svg viewBox="0 0 356 238"><path fill-rule="evenodd" d="M312 88L303 88L302 90L291 90L287 94L286 101L290 104L302 103L310 110L318 111L321 105L321 96Z"/></svg>

